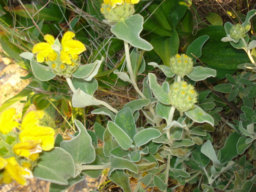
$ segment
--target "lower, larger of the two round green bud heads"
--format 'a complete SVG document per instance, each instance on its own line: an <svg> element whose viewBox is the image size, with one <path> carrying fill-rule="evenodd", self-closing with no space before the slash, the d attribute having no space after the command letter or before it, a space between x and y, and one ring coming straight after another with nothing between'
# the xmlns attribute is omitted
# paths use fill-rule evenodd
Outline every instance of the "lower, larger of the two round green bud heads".
<svg viewBox="0 0 256 192"><path fill-rule="evenodd" d="M194 87L185 81L174 82L170 86L170 104L181 112L194 108L194 104L197 102L197 96L198 94L194 90Z"/></svg>

